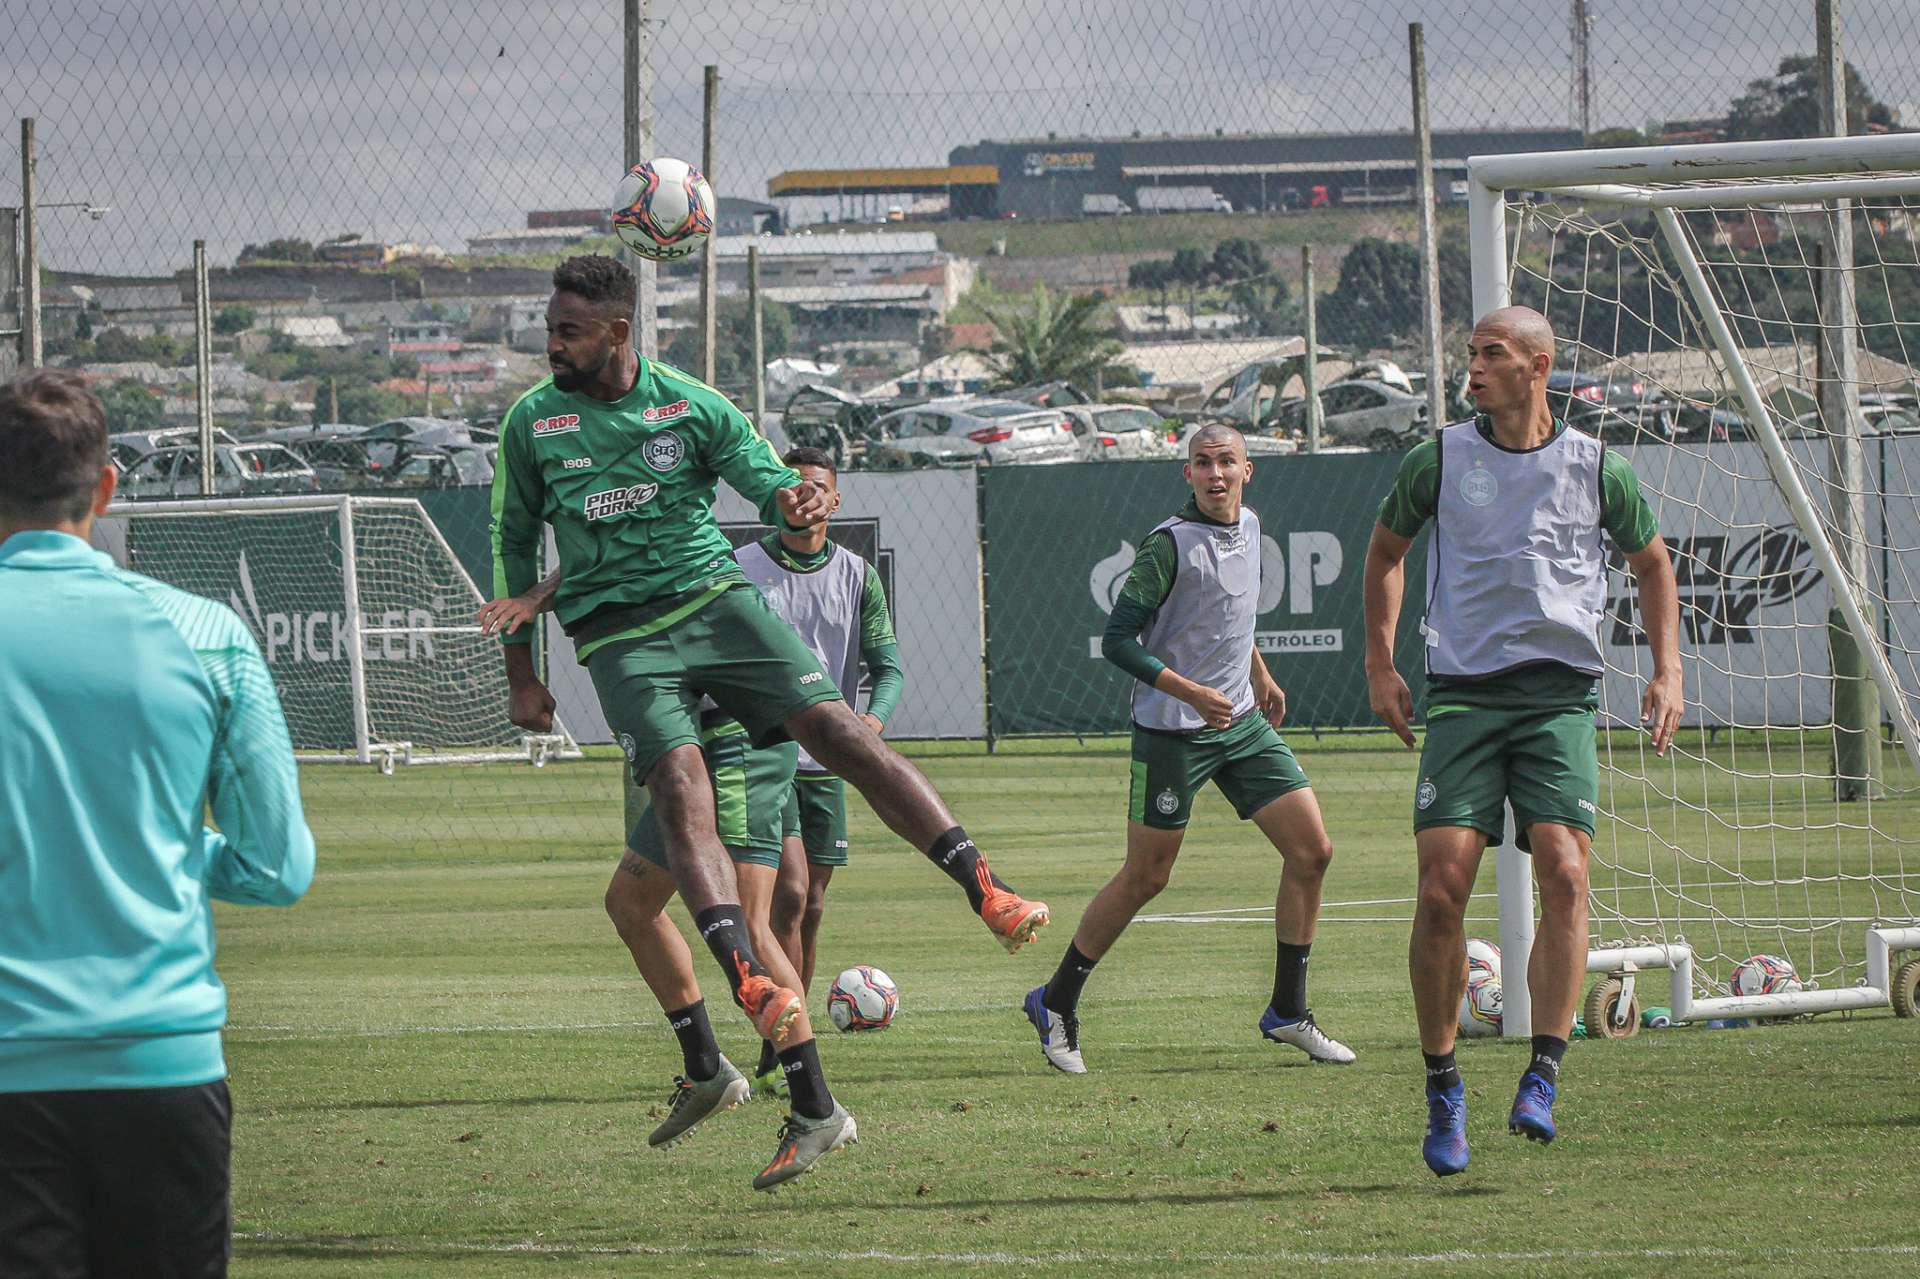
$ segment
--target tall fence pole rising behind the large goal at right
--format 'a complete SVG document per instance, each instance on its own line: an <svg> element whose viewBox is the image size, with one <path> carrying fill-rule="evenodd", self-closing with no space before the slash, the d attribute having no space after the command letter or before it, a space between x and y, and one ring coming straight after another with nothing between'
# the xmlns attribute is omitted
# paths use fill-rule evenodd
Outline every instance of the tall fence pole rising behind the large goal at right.
<svg viewBox="0 0 1920 1279"><path fill-rule="evenodd" d="M1847 136L1847 61L1839 44L1839 0L1816 0L1820 133ZM1860 446L1860 359L1855 326L1853 202L1832 204L1826 271L1818 275L1818 399L1826 426L1826 509L1834 549L1857 599L1870 599L1866 553L1866 453ZM1834 799L1884 795L1880 772L1880 691L1866 676L1860 647L1839 609L1828 616L1834 661Z"/></svg>

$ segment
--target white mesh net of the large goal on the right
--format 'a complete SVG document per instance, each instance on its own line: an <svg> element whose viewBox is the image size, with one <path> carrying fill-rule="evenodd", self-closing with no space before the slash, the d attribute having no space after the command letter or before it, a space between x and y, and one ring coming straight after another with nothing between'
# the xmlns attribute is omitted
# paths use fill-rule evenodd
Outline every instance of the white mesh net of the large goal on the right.
<svg viewBox="0 0 1920 1279"><path fill-rule="evenodd" d="M1594 941L1690 945L1699 995L1753 954L1789 958L1807 987L1853 985L1866 928L1920 918L1920 785L1899 741L1920 709L1920 205L1757 204L1741 186L1672 217L1905 707L1849 678L1864 668L1834 584L1655 211L1551 192L1509 205L1513 302L1561 340L1553 407L1630 455L1680 584L1688 716L1655 759L1630 732L1651 659L1615 557ZM1843 282L1851 363L1822 353L1837 328L1820 296Z"/></svg>

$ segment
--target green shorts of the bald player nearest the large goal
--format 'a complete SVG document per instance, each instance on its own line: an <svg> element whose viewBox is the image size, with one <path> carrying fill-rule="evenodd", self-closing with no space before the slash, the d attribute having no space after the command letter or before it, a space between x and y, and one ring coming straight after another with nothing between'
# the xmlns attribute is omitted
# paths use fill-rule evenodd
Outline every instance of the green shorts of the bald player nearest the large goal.
<svg viewBox="0 0 1920 1279"><path fill-rule="evenodd" d="M1413 830L1471 826L1488 843L1507 833L1505 805L1526 849L1536 822L1594 833L1599 755L1594 707L1492 709L1444 705L1427 712Z"/></svg>

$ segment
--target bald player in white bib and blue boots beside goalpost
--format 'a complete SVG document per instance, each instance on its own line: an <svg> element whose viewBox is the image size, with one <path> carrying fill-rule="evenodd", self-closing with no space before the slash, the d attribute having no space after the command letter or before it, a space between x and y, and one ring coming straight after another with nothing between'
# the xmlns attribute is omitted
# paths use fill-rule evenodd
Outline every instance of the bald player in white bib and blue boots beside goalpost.
<svg viewBox="0 0 1920 1279"><path fill-rule="evenodd" d="M1421 1154L1442 1177L1467 1168L1467 1100L1453 1062L1467 981L1461 920L1480 853L1505 837L1507 803L1540 885L1540 931L1524 974L1534 1050L1507 1127L1553 1141L1553 1093L1586 974L1609 542L1632 565L1653 649L1640 718L1655 753L1667 753L1682 705L1672 561L1626 459L1548 411L1546 317L1528 307L1488 311L1467 359L1478 415L1407 453L1380 503L1365 568L1373 711L1411 747L1413 697L1394 670L1394 628L1402 561L1432 522L1421 628L1427 745L1413 789L1419 905L1407 970L1427 1056Z"/></svg>

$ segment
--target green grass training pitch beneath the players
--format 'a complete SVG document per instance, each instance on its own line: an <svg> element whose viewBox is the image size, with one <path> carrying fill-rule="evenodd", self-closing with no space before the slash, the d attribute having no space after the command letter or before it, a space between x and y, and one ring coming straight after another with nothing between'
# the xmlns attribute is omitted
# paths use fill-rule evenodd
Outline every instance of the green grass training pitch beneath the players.
<svg viewBox="0 0 1920 1279"><path fill-rule="evenodd" d="M616 760L309 768L313 893L219 920L234 1273L1920 1269L1920 1022L1889 1012L1574 1043L1551 1148L1505 1133L1523 1049L1465 1043L1473 1168L1436 1181L1404 970L1413 760L1377 736L1296 747L1342 903L1315 945L1313 1006L1356 1066L1256 1039L1265 922L1140 922L1087 989L1094 1074L1048 1072L1018 1006L1117 864L1123 749L922 747L1056 922L1006 956L856 805L820 966L885 968L902 1012L822 1045L862 1143L772 1196L747 1183L774 1150L774 1104L645 1146L680 1058L599 905ZM1882 830L1916 818L1914 801L1876 807ZM1152 910L1271 905L1275 878L1210 793ZM1492 901L1475 914L1494 935ZM716 1004L722 1047L751 1066L745 1020Z"/></svg>

